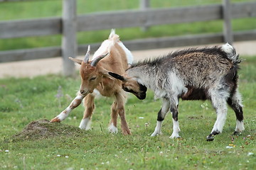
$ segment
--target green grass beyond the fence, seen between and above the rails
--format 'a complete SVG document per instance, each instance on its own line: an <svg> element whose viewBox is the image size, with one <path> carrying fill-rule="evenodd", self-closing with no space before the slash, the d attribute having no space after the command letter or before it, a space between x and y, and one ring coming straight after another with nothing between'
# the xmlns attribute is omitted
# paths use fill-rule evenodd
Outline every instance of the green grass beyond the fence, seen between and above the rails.
<svg viewBox="0 0 256 170"><path fill-rule="evenodd" d="M236 0L232 2L242 2ZM196 6L208 4L221 4L222 1L157 1L151 0L152 8ZM100 6L98 4L101 4ZM37 8L40 6L40 8ZM83 1L78 0L78 14L95 13L100 11L117 11L139 8L139 1L111 0L111 1ZM44 18L61 16L62 1L25 1L9 2L0 4L0 21L17 19ZM18 15L17 12L18 11ZM255 18L235 19L232 22L233 30L252 30L256 28ZM197 23L181 23L163 26L151 26L145 32L141 28L120 28L117 33L122 40L133 40L137 38L156 38L175 35L188 35L199 33L220 33L222 32L222 21L207 21ZM77 33L78 44L102 42L109 35L110 30L97 30ZM13 38L0 40L0 50L26 49L34 47L60 46L60 35L47 35L31 38Z"/></svg>

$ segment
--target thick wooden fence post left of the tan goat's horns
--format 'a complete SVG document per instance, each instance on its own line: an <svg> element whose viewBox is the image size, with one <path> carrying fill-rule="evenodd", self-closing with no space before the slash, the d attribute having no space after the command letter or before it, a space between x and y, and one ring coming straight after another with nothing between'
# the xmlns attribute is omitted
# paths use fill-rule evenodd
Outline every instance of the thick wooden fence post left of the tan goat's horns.
<svg viewBox="0 0 256 170"><path fill-rule="evenodd" d="M63 56L63 75L75 74L75 64L68 57L76 57L78 45L76 42L76 0L63 0L63 38L61 53Z"/></svg>

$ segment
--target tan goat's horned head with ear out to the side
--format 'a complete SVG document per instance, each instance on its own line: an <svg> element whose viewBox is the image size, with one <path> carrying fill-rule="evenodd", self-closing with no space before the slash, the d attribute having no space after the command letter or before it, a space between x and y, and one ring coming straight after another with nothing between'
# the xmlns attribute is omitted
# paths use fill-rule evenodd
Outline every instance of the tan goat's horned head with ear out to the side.
<svg viewBox="0 0 256 170"><path fill-rule="evenodd" d="M87 52L85 54L84 60L74 59L69 57L70 60L76 62L81 65L80 67L80 76L81 76L81 86L80 86L80 94L86 96L89 93L92 93L93 90L100 84L102 80L103 74L101 74L101 70L96 67L97 63L102 60L107 54L100 55L95 57L94 60L89 62L90 57L90 45L88 46Z"/></svg>

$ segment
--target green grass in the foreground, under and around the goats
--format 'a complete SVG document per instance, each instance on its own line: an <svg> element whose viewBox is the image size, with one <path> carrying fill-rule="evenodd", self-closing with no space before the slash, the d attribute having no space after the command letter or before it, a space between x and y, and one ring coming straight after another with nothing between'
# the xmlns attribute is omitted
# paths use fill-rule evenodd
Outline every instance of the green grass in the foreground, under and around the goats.
<svg viewBox="0 0 256 170"><path fill-rule="evenodd" d="M56 132L64 132L63 125L70 125L64 128L74 131L73 135L11 141L31 121L50 120L63 111L70 103L69 96L74 97L79 89L80 77L0 79L0 169L255 169L256 56L243 58L239 89L245 106L245 131L231 135L235 113L229 109L223 133L213 142L207 142L206 135L213 128L215 111L209 102L208 109L203 109L203 101L180 102L181 139L169 139L170 114L164 120L163 135L150 137L161 108L161 101L154 101L151 91L144 101L129 95L125 108L132 135L123 136L120 125L117 134L107 132L112 100L100 98L95 101L90 131L74 128L82 118L83 107L79 106L54 126ZM63 96L56 98L56 94Z"/></svg>

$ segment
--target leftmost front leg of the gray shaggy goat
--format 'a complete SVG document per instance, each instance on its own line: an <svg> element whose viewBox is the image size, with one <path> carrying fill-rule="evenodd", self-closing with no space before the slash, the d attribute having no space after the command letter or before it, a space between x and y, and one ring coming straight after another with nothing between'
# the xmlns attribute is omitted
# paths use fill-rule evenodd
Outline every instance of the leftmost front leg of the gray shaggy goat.
<svg viewBox="0 0 256 170"><path fill-rule="evenodd" d="M152 133L151 137L154 137L156 135L161 134L161 125L164 121L164 118L166 116L166 113L169 111L170 108L170 101L168 98L163 98L163 105L162 108L160 109L158 115L157 115L157 122L156 122L156 128L154 132Z"/></svg>

